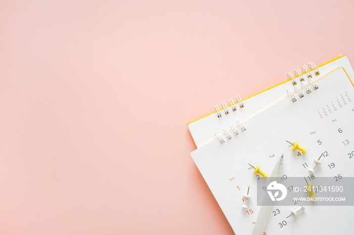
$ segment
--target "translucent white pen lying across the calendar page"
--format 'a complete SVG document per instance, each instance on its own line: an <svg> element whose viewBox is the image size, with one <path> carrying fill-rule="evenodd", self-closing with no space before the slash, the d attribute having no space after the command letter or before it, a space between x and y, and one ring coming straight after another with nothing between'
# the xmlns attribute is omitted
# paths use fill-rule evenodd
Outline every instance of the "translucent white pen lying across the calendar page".
<svg viewBox="0 0 354 235"><path fill-rule="evenodd" d="M271 174L271 177L281 177L282 176L283 162L284 162L283 156L284 156L284 154L282 154L282 156L279 158L279 160L275 164L272 174ZM267 197L267 195L264 195L264 196ZM263 199L263 201L266 201L266 200ZM258 216L256 219L256 223L255 223L253 231L252 231L252 235L263 234L264 228L265 228L265 225L267 224L267 220L268 220L269 214L271 213L271 210L272 210L272 205L260 206Z"/></svg>

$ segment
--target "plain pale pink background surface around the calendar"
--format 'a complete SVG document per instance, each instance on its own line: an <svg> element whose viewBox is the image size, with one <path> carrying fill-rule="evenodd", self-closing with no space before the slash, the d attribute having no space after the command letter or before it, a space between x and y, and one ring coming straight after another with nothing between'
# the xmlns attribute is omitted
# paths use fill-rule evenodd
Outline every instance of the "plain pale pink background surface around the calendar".
<svg viewBox="0 0 354 235"><path fill-rule="evenodd" d="M1 1L0 234L232 234L186 124L354 60L353 1Z"/></svg>

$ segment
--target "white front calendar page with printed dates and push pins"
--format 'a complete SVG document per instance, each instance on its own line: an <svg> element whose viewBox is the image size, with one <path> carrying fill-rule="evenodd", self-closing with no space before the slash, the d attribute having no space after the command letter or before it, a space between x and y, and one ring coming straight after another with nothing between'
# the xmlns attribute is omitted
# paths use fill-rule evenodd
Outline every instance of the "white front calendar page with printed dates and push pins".
<svg viewBox="0 0 354 235"><path fill-rule="evenodd" d="M352 177L354 175L354 87L341 67L315 81L318 89L299 97L287 96L243 125L240 134L220 143L219 139L191 153L204 180L222 208L236 234L251 234L260 206L257 206L257 181L253 166L271 174L284 154L283 175L286 177ZM306 152L292 150L297 142ZM314 159L324 153L314 172ZM332 164L333 163L333 164ZM311 181L311 180L310 180ZM247 189L251 197L243 208ZM264 235L269 234L349 234L353 206L306 206L297 216L291 209L299 204L272 209ZM275 211L275 212L274 212Z"/></svg>

